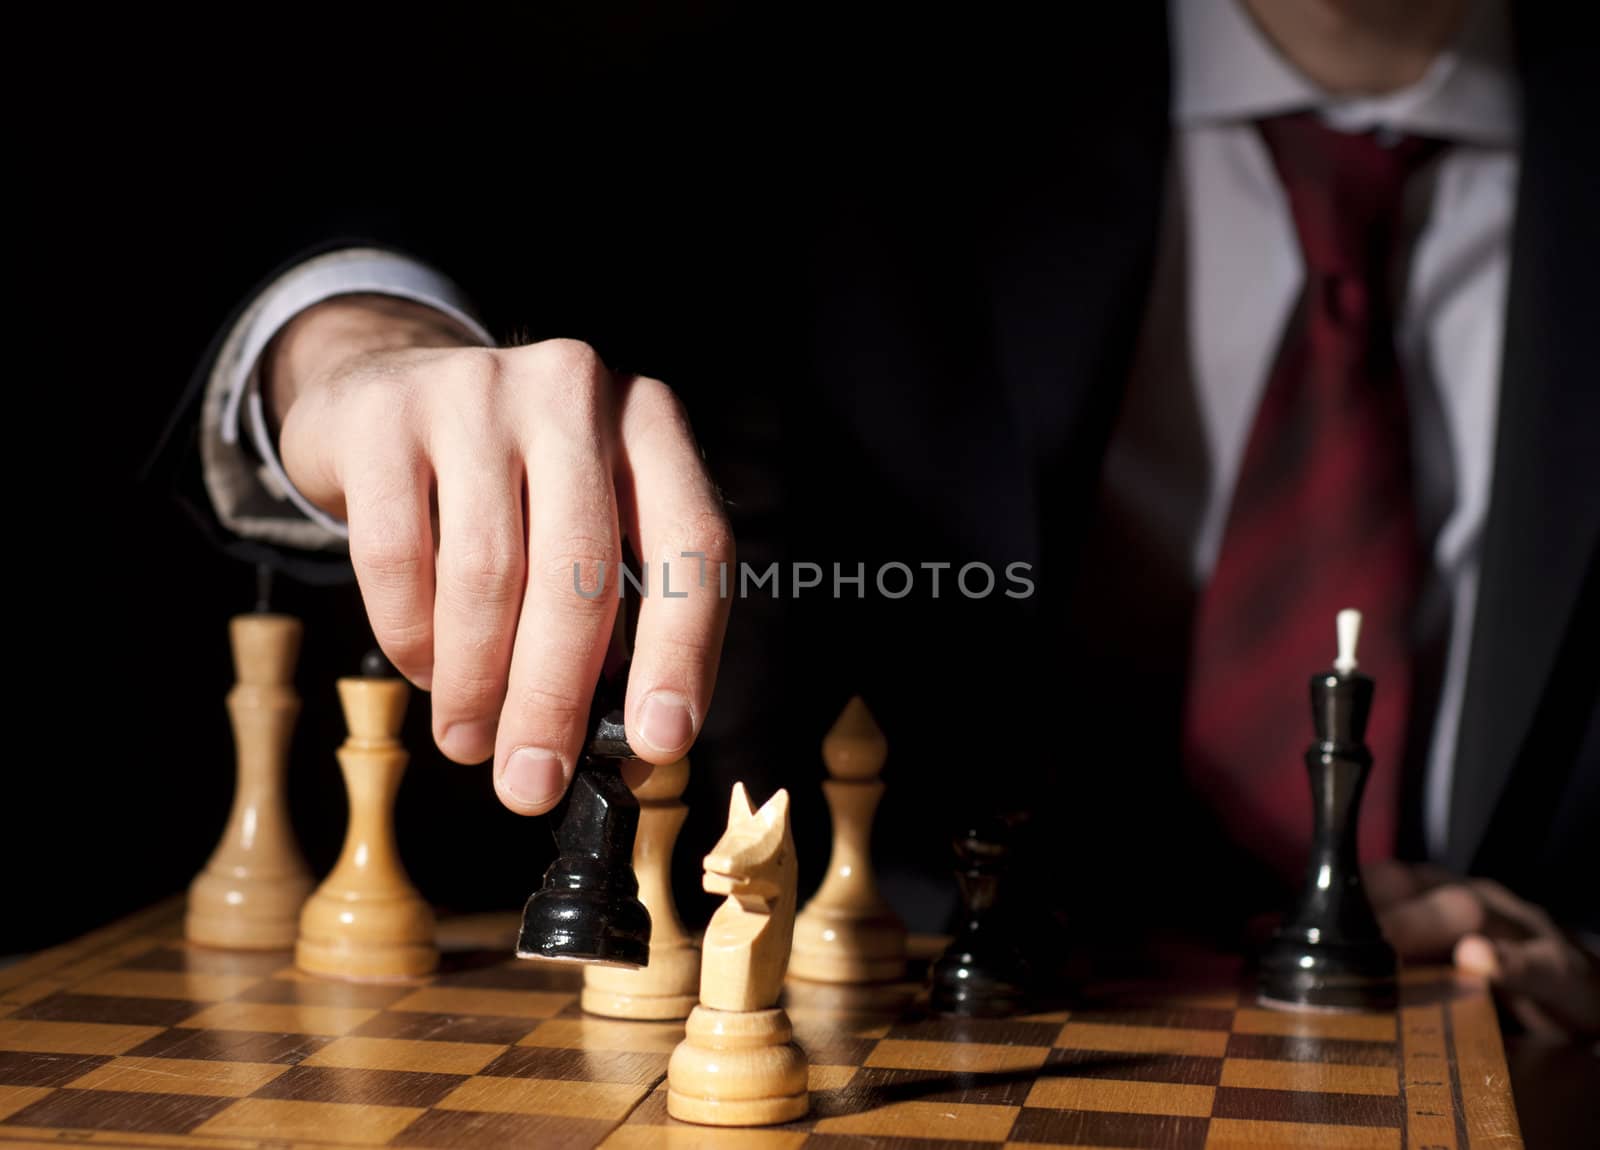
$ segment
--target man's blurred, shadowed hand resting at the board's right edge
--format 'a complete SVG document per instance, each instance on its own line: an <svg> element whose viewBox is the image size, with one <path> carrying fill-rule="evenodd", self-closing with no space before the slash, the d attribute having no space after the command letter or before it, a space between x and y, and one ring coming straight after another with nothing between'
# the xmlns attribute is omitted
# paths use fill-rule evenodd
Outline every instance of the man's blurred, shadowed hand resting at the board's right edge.
<svg viewBox="0 0 1600 1150"><path fill-rule="evenodd" d="M1600 960L1539 907L1488 878L1427 864L1373 864L1365 881L1402 958L1450 958L1488 977L1531 1033L1600 1035Z"/></svg>

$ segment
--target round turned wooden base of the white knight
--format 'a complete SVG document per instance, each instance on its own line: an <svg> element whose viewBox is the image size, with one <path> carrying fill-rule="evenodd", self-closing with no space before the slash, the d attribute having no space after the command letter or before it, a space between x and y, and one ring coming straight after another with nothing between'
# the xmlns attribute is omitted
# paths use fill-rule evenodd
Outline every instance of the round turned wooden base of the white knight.
<svg viewBox="0 0 1600 1150"><path fill-rule="evenodd" d="M667 1064L667 1113L701 1126L773 1126L811 1108L805 1051L782 1008L696 1006Z"/></svg>

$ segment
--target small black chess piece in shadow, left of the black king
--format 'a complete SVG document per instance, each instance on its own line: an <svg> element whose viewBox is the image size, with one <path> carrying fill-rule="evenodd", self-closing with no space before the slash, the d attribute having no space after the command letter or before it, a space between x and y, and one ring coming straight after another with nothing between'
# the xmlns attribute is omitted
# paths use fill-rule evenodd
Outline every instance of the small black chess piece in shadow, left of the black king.
<svg viewBox="0 0 1600 1150"><path fill-rule="evenodd" d="M1027 963L1002 894L1011 861L1010 827L986 819L955 837L962 923L930 971L934 1014L1005 1017L1027 1001Z"/></svg>

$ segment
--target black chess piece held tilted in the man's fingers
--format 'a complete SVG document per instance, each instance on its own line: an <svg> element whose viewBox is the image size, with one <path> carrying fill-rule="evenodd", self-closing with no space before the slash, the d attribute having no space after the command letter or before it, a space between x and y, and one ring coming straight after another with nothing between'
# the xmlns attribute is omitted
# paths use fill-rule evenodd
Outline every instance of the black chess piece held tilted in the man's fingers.
<svg viewBox="0 0 1600 1150"><path fill-rule="evenodd" d="M627 681L626 675L618 680ZM634 752L622 729L621 686L603 685L602 694L589 747L552 813L557 857L522 912L518 958L608 966L650 961L650 912L638 900L634 875L638 800L621 773L621 761Z"/></svg>

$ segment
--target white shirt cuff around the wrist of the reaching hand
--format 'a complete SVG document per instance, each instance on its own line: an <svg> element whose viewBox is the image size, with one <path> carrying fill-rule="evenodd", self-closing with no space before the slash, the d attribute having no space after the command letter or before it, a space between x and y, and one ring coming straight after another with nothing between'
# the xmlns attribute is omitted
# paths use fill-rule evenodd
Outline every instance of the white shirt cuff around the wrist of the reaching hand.
<svg viewBox="0 0 1600 1150"><path fill-rule="evenodd" d="M248 539L336 550L347 526L317 509L283 470L259 387L267 344L307 307L334 296L379 294L432 307L485 345L494 339L462 291L432 267L379 248L330 251L291 267L256 296L227 333L206 382L200 457L206 493L226 528ZM261 462L242 440L248 437Z"/></svg>

